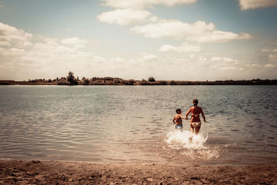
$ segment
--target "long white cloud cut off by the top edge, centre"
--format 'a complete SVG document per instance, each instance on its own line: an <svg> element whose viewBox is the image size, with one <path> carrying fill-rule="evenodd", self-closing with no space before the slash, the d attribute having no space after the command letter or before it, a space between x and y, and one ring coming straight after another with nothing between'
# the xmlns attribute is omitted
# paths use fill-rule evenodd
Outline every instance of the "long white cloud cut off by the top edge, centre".
<svg viewBox="0 0 277 185"><path fill-rule="evenodd" d="M192 4L197 0L102 0L105 6L114 8L134 8L143 9L146 7L152 8L154 5L175 6L180 4Z"/></svg>

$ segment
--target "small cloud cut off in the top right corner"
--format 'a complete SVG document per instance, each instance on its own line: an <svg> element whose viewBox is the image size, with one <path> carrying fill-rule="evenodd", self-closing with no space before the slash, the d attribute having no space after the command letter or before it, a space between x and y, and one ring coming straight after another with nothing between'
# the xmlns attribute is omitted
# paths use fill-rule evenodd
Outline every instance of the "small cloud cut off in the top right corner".
<svg viewBox="0 0 277 185"><path fill-rule="evenodd" d="M276 0L240 0L240 9L256 9L277 6Z"/></svg>

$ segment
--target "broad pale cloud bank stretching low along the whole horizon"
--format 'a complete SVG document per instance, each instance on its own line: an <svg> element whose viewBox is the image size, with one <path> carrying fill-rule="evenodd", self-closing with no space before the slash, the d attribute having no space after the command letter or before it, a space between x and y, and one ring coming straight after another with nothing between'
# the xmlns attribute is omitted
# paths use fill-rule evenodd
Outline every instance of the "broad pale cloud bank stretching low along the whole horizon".
<svg viewBox="0 0 277 185"><path fill-rule="evenodd" d="M204 24L205 26L206 24ZM213 30L213 24L211 30ZM24 30L21 31L26 33ZM198 34L202 33L200 30L198 31ZM193 33L190 33L190 35L193 35ZM105 57L102 57L89 52L96 45L93 46L92 43L78 37L57 39L44 37L43 35L33 35L33 37L27 38L24 42L22 39L12 39L12 42L8 42L11 44L10 46L0 46L1 79L55 78L66 76L68 71L73 71L75 76L80 78L82 76L89 78L93 76L113 76L125 79L142 79L154 76L157 80L220 80L222 78L248 78L250 76L248 74L253 75L261 69L264 70L260 72L262 75L268 75L267 78L276 78L276 75L272 73L272 70L276 68L265 67L265 64L275 65L276 67L277 55L271 55L273 61L260 64L261 67L259 68L258 66L246 67L238 63L238 60L243 61L241 58L237 60L232 55L211 58L211 55L207 53L202 53L202 56L198 56L198 53L186 53L179 58L176 53L176 55L166 56L159 56L156 53L132 53L131 56L128 52L122 56L115 51L114 54L106 52L107 55L103 54ZM3 41L6 41L6 39L3 39ZM77 47L78 44L87 44L88 46L80 48ZM171 46L170 49L163 47L163 50L185 51L185 46L190 46L190 44L184 42L179 46ZM197 44L192 46L196 46L195 49L197 50ZM184 48L182 49L182 47ZM188 48L193 51L193 48ZM93 51L97 52L97 50ZM163 53L159 54L163 55ZM116 55L116 57L113 55ZM197 67L199 76L194 75L195 70L192 69L195 67ZM234 77L233 74L238 70L242 70L243 67L245 67L244 73L236 73ZM186 73L175 73L176 69L179 68L186 69ZM263 78L262 75L259 78Z"/></svg>

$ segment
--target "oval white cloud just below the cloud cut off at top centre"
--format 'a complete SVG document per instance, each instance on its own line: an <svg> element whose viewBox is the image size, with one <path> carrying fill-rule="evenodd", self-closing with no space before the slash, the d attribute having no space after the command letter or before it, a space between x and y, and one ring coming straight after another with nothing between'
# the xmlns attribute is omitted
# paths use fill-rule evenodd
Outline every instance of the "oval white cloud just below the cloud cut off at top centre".
<svg viewBox="0 0 277 185"><path fill-rule="evenodd" d="M147 10L133 10L132 8L127 8L102 12L102 14L98 15L96 19L108 24L128 25L151 19L150 16L151 13Z"/></svg>

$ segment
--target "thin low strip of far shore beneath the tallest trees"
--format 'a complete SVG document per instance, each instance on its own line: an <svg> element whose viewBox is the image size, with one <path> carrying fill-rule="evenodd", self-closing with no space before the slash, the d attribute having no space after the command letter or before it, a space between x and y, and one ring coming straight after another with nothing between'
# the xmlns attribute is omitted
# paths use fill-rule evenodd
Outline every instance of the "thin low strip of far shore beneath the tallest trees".
<svg viewBox="0 0 277 185"><path fill-rule="evenodd" d="M77 83L78 82L78 83ZM277 80L216 80L216 81L184 81L184 80L91 80L87 83L78 80L75 85L277 85ZM0 85L69 85L66 81L15 81L0 80Z"/></svg>

